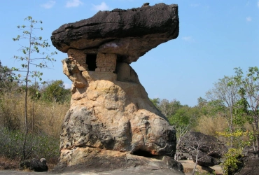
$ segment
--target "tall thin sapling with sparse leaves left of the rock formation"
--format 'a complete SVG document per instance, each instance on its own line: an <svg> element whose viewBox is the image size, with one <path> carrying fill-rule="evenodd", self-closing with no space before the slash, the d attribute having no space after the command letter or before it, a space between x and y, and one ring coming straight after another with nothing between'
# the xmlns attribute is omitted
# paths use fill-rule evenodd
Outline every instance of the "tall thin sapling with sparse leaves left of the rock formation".
<svg viewBox="0 0 259 175"><path fill-rule="evenodd" d="M53 55L57 52L41 52L40 48L47 49L50 47L50 44L47 40L43 40L41 36L36 36L36 30L43 30L42 27L38 25L42 24L42 21L34 20L31 16L25 18L25 21L28 22L28 25L18 25L18 29L22 31L22 35L18 35L16 38L13 38L13 41L20 41L25 39L27 45L22 45L19 49L22 52L22 56L14 56L15 59L18 59L22 62L21 68L13 68L13 71L20 72L18 76L15 76L16 80L20 80L25 83L25 142L23 150L23 159L27 158L25 152L25 145L28 134L28 123L27 123L27 99L28 99L28 87L31 83L31 78L38 78L41 81L41 76L43 73L40 71L35 71L31 69L45 68L48 67L47 62L55 61L52 58ZM34 79L35 80L35 79Z"/></svg>

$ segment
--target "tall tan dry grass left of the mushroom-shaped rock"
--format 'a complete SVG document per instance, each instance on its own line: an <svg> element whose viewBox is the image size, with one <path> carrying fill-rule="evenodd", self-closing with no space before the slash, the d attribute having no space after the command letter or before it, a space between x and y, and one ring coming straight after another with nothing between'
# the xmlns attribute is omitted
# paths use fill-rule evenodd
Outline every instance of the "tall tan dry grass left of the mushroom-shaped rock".
<svg viewBox="0 0 259 175"><path fill-rule="evenodd" d="M59 137L61 125L70 104L52 104L47 102L28 100L27 120L29 132L45 133L52 137ZM24 94L5 94L0 108L0 120L3 127L10 130L25 128L25 100Z"/></svg>

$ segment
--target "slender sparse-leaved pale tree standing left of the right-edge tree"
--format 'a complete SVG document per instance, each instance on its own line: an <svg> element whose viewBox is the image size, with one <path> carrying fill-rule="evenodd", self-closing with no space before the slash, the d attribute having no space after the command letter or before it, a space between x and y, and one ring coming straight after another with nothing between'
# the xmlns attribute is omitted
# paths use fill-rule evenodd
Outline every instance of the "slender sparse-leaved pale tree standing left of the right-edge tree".
<svg viewBox="0 0 259 175"><path fill-rule="evenodd" d="M219 79L217 83L214 83L214 88L207 92L207 98L216 101L222 101L226 104L229 117L225 113L225 117L228 118L229 132L234 132L233 123L233 108L236 102L239 100L239 82L234 77L224 76L224 78ZM232 138L233 139L233 138ZM232 141L230 143L232 148Z"/></svg>

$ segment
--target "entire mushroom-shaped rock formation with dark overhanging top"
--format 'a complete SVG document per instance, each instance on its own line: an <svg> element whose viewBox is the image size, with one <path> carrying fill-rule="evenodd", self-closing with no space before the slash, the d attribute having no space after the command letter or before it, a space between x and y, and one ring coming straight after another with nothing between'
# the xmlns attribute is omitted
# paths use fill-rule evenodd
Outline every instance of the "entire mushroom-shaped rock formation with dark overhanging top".
<svg viewBox="0 0 259 175"><path fill-rule="evenodd" d="M178 166L172 159L174 127L148 99L129 65L178 34L178 6L165 3L100 11L53 31L53 45L68 53L63 71L73 83L59 167L115 169L140 164L161 169L139 155L157 156L166 161L165 169Z"/></svg>

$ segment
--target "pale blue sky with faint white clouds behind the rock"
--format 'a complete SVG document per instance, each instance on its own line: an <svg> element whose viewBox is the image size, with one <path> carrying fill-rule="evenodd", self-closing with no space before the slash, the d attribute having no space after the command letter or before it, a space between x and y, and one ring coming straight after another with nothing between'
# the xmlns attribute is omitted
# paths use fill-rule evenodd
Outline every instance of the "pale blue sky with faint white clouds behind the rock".
<svg viewBox="0 0 259 175"><path fill-rule="evenodd" d="M136 8L149 2L179 5L179 37L159 45L131 64L150 98L177 99L194 106L198 97L213 87L219 78L231 76L234 68L259 66L258 0L16 0L1 1L0 52L3 65L20 65L19 43L12 38L19 33L17 25L25 24L31 15L43 21L39 33L50 41L52 31L69 22L92 17L98 10ZM50 42L51 43L51 42ZM55 51L54 47L50 51ZM52 69L43 69L43 80L70 80L62 73L59 52Z"/></svg>

